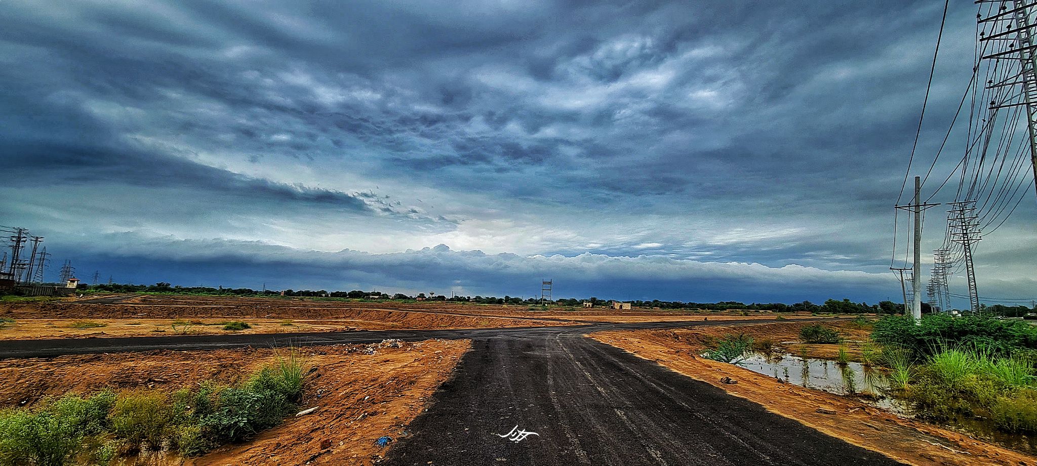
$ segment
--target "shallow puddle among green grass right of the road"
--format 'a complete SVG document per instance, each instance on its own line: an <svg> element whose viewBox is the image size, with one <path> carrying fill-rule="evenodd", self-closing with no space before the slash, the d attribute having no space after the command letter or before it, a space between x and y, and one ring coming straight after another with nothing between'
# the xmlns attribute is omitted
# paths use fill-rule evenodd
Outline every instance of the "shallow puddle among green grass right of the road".
<svg viewBox="0 0 1037 466"><path fill-rule="evenodd" d="M828 359L804 359L780 352L751 353L748 356L739 366L753 372L836 395L871 394L875 396L874 399L862 401L876 408L914 417L914 410L908 403L889 395L890 381L881 369L865 367L860 362L839 365ZM1037 438L999 431L986 419L961 417L951 419L948 426L1017 452L1037 455Z"/></svg>

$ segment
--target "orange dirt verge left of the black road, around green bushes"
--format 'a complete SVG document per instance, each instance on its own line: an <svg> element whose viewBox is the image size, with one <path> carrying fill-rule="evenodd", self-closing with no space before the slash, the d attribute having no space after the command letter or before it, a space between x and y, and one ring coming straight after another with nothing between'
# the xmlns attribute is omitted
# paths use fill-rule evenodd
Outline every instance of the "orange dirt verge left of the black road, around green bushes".
<svg viewBox="0 0 1037 466"><path fill-rule="evenodd" d="M289 418L249 442L217 448L188 464L373 464L388 449L375 445L375 439L395 439L404 432L470 342L392 346L305 348L315 372L307 378L303 408L318 407L314 413ZM366 354L368 348L374 353ZM274 357L272 349L244 349L6 359L0 361L0 406L29 406L45 396L105 387L172 391L202 380L231 383Z"/></svg>

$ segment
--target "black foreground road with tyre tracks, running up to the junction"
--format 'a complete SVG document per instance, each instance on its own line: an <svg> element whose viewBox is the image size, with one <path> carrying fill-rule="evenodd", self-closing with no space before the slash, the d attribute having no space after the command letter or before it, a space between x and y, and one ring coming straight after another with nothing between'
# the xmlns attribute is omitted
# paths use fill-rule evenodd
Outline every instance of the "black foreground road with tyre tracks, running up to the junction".
<svg viewBox="0 0 1037 466"><path fill-rule="evenodd" d="M477 339L386 464L899 464L584 331Z"/></svg>

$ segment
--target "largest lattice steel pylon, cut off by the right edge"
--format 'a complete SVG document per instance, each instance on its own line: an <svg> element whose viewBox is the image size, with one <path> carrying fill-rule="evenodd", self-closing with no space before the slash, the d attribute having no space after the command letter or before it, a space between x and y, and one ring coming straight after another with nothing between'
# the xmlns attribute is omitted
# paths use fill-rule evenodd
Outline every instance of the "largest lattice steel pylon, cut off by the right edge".
<svg viewBox="0 0 1037 466"><path fill-rule="evenodd" d="M1027 130L1029 132L1030 162L1033 165L1034 179L1037 181L1037 3L1032 0L978 0L980 4L1000 5L998 12L987 18L976 14L980 24L980 41L991 46L993 51L984 55L984 60L994 60L997 66L1002 60L1017 61L1017 72L1009 72L999 82L987 82L988 89L1000 87L1015 87L1018 92L1007 92L1002 101L991 100L990 110L1006 107L1025 106L1027 111ZM987 30L989 28L989 33ZM1035 182L1037 186L1037 182Z"/></svg>

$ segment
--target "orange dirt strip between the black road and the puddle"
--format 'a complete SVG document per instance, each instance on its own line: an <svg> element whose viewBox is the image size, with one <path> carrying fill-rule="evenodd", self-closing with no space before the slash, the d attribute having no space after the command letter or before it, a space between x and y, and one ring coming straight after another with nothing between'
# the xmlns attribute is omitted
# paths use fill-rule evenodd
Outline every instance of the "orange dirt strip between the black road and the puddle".
<svg viewBox="0 0 1037 466"><path fill-rule="evenodd" d="M748 369L698 357L709 339L741 332L754 339L790 341L798 334L798 327L802 325L804 323L604 331L590 337L721 387L731 395L758 403L768 411L795 419L828 435L907 464L1037 465L1037 459L1027 455L956 432L901 418L853 399L782 383ZM838 348L838 345L822 346ZM737 383L721 383L720 380L724 377L737 380Z"/></svg>

